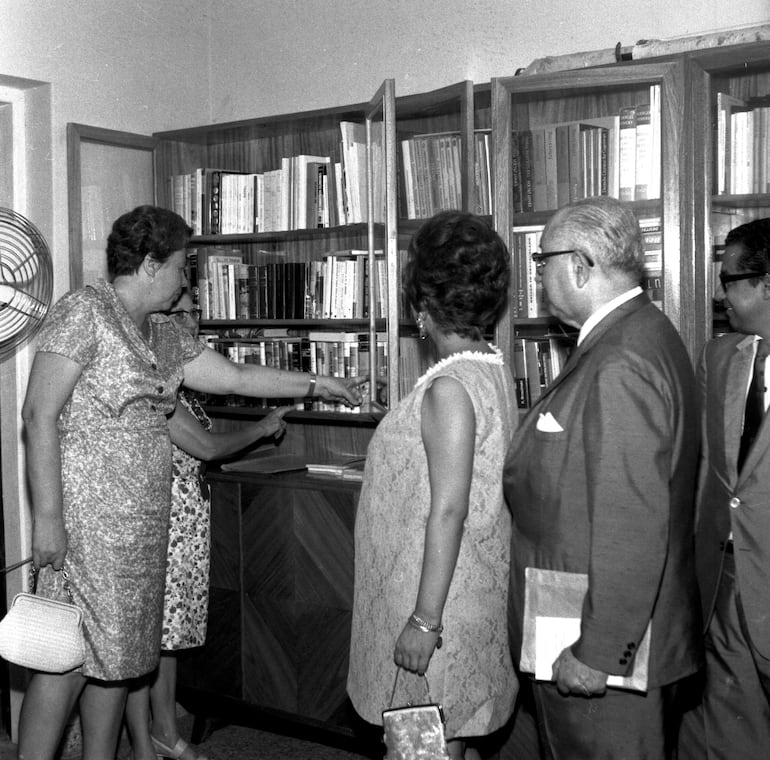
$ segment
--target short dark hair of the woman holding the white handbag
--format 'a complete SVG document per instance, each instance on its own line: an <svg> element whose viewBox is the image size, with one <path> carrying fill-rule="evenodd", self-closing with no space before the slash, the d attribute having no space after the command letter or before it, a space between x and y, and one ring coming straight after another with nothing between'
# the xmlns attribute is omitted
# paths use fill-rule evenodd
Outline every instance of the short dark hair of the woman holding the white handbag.
<svg viewBox="0 0 770 760"><path fill-rule="evenodd" d="M110 278L134 274L145 256L165 261L190 241L192 228L179 214L158 206L137 206L119 216L107 238Z"/></svg>

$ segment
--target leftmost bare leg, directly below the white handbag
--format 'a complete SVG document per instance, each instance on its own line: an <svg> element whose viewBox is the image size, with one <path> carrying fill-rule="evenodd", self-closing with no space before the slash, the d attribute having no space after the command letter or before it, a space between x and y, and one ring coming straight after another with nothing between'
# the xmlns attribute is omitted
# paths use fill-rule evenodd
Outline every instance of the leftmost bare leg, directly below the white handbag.
<svg viewBox="0 0 770 760"><path fill-rule="evenodd" d="M86 679L80 673L32 676L19 718L19 760L53 760L85 685Z"/></svg>

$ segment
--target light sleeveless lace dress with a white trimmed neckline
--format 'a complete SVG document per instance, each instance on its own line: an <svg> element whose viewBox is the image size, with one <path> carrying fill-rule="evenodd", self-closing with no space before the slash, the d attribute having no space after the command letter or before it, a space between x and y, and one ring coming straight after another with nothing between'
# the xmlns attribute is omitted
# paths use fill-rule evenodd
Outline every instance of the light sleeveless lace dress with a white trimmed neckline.
<svg viewBox="0 0 770 760"><path fill-rule="evenodd" d="M471 398L476 441L468 516L444 608L444 645L426 676L431 698L444 707L447 738L483 736L507 721L518 691L506 626L511 521L502 491L517 416L513 381L497 350L454 354L435 365L385 416L369 444L356 515L348 693L363 718L382 723L396 675L393 650L417 599L430 511L422 400L443 376L460 382ZM393 706L425 696L423 679L402 671Z"/></svg>

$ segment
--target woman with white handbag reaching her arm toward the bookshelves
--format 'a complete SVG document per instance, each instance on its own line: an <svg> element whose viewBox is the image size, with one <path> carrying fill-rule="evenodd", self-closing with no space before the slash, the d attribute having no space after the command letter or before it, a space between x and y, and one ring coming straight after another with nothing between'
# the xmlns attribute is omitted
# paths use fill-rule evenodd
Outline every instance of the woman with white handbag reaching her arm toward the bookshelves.
<svg viewBox="0 0 770 760"><path fill-rule="evenodd" d="M35 673L19 724L19 757L52 760L79 700L83 760L114 756L128 680L158 664L171 444L182 381L193 390L360 402L357 381L234 364L176 330L167 311L186 285L192 230L140 206L107 242L111 282L65 295L38 340L22 409L38 593L63 595L65 564L83 611L86 661Z"/></svg>

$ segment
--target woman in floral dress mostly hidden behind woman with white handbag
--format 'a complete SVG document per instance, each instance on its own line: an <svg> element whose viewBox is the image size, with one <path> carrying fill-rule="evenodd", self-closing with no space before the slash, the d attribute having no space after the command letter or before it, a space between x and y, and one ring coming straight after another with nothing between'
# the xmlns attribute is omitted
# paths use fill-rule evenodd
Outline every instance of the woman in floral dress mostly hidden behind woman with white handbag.
<svg viewBox="0 0 770 760"><path fill-rule="evenodd" d="M180 330L198 337L200 310L187 291L168 314ZM126 723L133 760L156 756L206 760L181 738L176 724L176 652L202 646L206 640L210 503L201 463L234 454L262 438L280 438L286 429L283 416L292 408L274 409L239 430L212 433L211 420L195 395L179 391L169 417L173 474L160 663L128 694Z"/></svg>

